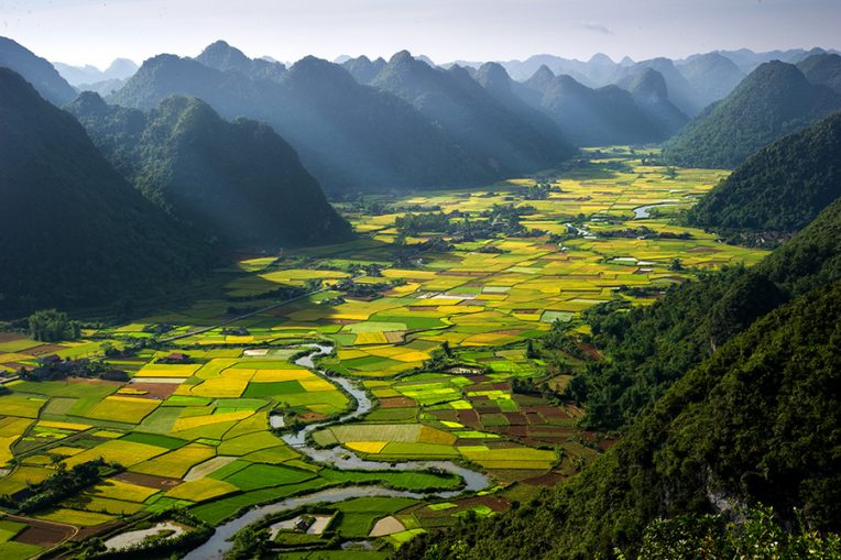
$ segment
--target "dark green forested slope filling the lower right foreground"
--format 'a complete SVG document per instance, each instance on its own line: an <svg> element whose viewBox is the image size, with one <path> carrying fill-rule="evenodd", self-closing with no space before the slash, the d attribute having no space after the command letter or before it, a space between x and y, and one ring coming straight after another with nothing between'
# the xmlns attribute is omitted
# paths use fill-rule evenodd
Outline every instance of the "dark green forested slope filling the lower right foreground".
<svg viewBox="0 0 841 560"><path fill-rule="evenodd" d="M841 200L758 266L735 279L782 281L777 288L794 299L762 305L764 312L745 317L750 322L706 359L684 363L674 385L611 450L531 502L412 540L397 558L612 558L616 550L635 558L643 531L658 518L718 512L738 518L741 507L757 504L773 506L783 525L796 525L801 516L809 530L839 530L841 458L826 450L841 444ZM749 284L731 284L732 272L721 279L736 292ZM685 334L678 326L696 328L685 310L703 315L708 305L686 297L693 289L655 304L660 322L649 322L647 330L632 319L615 323L613 332L637 337L637 348L644 348L652 327L670 330L675 354ZM740 295L764 304L755 289ZM643 372L625 375L642 378ZM657 558L698 553L687 552Z"/></svg>

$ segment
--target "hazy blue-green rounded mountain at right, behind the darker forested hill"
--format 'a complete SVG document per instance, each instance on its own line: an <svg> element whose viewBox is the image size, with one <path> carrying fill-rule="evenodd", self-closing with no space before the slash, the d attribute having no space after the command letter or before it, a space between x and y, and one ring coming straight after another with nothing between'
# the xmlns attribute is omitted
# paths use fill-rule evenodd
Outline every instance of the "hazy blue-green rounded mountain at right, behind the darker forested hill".
<svg viewBox="0 0 841 560"><path fill-rule="evenodd" d="M664 157L687 167L733 168L758 149L841 109L841 95L810 84L791 64L765 63L692 119Z"/></svg>

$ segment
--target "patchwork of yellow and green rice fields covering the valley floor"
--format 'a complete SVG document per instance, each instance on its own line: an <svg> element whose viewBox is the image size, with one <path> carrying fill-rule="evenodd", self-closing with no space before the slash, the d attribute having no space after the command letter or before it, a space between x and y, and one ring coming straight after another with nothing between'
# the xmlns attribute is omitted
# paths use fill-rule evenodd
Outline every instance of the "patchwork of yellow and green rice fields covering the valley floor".
<svg viewBox="0 0 841 560"><path fill-rule="evenodd" d="M513 391L518 380L547 376L560 388L580 367L570 358L558 371L529 354L526 341L559 326L582 329L580 312L602 301L649 305L670 284L764 255L673 223L723 172L647 166L641 155L648 154L593 154L539 189L516 179L349 202L341 209L359 239L248 255L219 272L226 288L216 299L86 330L81 341L0 334L10 389L0 396L0 495L25 496L62 464L102 458L120 465L52 507L0 520L0 557L25 558L77 532L109 537L174 506L196 525L218 525L255 504L349 483L458 490L462 481L447 473L315 464L270 429L270 420L297 429L354 406L329 375L291 360L313 341L336 348L319 367L358 380L375 403L361 421L315 430L315 444L340 446L384 470L395 461L456 461L493 483L447 501L381 496L323 506L342 515L318 535L278 529L278 546L326 546L340 530L368 543L330 558L381 558L425 528L469 512L493 515L575 473L612 440L578 428L575 406ZM651 217L634 219L634 209L652 205ZM520 229L489 237L395 226L406 213L441 212L477 231L515 215ZM302 289L309 294L275 299ZM15 380L44 356L95 358L106 343L116 349L106 361L129 381Z"/></svg>

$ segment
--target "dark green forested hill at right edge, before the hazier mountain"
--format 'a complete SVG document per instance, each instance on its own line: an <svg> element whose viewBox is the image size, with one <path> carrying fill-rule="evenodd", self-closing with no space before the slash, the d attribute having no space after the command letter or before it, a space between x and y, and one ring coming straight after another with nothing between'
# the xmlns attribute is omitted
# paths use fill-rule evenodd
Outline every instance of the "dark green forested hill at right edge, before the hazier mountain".
<svg viewBox="0 0 841 560"><path fill-rule="evenodd" d="M688 213L717 230L791 232L841 197L841 112L760 150Z"/></svg>

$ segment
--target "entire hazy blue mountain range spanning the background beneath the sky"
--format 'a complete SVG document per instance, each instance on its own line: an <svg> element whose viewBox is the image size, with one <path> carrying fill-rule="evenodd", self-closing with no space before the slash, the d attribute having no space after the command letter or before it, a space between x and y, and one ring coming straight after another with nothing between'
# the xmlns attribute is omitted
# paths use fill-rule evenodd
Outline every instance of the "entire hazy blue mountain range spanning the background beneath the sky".
<svg viewBox="0 0 841 560"><path fill-rule="evenodd" d="M218 41L195 58L157 55L136 72L124 59L105 72L56 64L74 89L48 62L0 41L0 65L58 106L78 90L141 110L172 95L196 97L222 119L270 124L327 191L341 195L527 175L563 164L574 145L670 139L674 164L734 167L837 109L841 96L841 56L820 48L619 63L536 55L436 66L407 52L337 61L287 66Z"/></svg>

